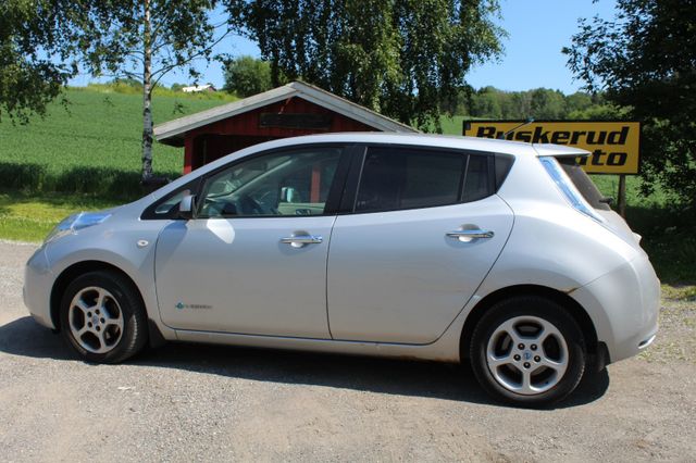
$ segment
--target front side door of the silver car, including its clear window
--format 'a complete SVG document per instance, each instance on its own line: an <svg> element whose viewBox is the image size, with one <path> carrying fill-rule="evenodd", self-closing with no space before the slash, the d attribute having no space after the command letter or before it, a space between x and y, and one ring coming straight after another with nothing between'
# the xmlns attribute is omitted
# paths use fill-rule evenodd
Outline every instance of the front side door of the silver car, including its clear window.
<svg viewBox="0 0 696 463"><path fill-rule="evenodd" d="M195 218L169 224L158 239L162 321L178 329L328 338L326 259L344 151L307 146L208 175Z"/></svg>

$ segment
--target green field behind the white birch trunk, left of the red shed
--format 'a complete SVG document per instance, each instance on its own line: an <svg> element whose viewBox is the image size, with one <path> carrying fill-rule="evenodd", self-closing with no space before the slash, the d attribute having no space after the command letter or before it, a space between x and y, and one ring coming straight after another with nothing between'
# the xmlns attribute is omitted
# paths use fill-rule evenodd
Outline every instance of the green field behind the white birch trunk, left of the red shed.
<svg viewBox="0 0 696 463"><path fill-rule="evenodd" d="M52 103L45 118L35 117L27 125L13 125L4 118L0 123L0 188L121 198L137 195L129 189L138 188L142 97L116 90L103 85L71 88L64 93L69 105ZM173 95L154 95L156 123L234 99L226 93L213 97L217 93L161 92ZM154 143L153 166L158 174L177 176L183 164L183 149ZM90 182L88 177L96 178ZM113 186L124 182L128 188Z"/></svg>

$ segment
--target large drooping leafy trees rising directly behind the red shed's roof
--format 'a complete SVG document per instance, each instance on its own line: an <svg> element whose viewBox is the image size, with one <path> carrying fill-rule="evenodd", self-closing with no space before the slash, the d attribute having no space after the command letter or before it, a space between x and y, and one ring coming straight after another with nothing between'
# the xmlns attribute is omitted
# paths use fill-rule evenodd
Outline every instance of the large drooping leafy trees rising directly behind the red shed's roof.
<svg viewBox="0 0 696 463"><path fill-rule="evenodd" d="M226 0L271 80L301 78L419 127L435 124L472 64L496 58L497 0Z"/></svg>

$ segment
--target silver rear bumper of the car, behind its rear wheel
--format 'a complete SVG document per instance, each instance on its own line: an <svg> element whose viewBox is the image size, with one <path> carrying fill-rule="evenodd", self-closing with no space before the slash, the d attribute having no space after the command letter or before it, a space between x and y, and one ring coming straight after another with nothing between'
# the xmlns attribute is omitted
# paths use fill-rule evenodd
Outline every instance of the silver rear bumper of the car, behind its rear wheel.
<svg viewBox="0 0 696 463"><path fill-rule="evenodd" d="M598 341L607 346L607 363L633 356L655 340L660 281L647 255L641 254L570 296L593 320Z"/></svg>

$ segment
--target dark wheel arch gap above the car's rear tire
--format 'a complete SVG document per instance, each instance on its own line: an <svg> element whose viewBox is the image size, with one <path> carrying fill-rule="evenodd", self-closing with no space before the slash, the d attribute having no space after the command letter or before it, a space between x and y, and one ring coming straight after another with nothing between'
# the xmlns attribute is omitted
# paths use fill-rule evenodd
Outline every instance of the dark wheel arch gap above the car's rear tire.
<svg viewBox="0 0 696 463"><path fill-rule="evenodd" d="M577 303L577 301L568 296L566 292L549 288L547 286L517 285L493 291L492 293L484 297L481 301L478 301L478 303L476 303L476 305L472 309L472 311L467 316L467 321L464 322L464 326L461 331L459 345L460 359L469 359L469 345L471 342L471 337L473 335L474 328L476 327L476 324L478 324L478 321L483 317L486 311L499 301L519 296L538 296L547 298L566 308L566 310L580 326L580 329L585 337L587 353L591 355L591 358L604 355L604 349L606 348L599 346L595 325L587 314L587 311L585 311L585 309L580 303Z"/></svg>

